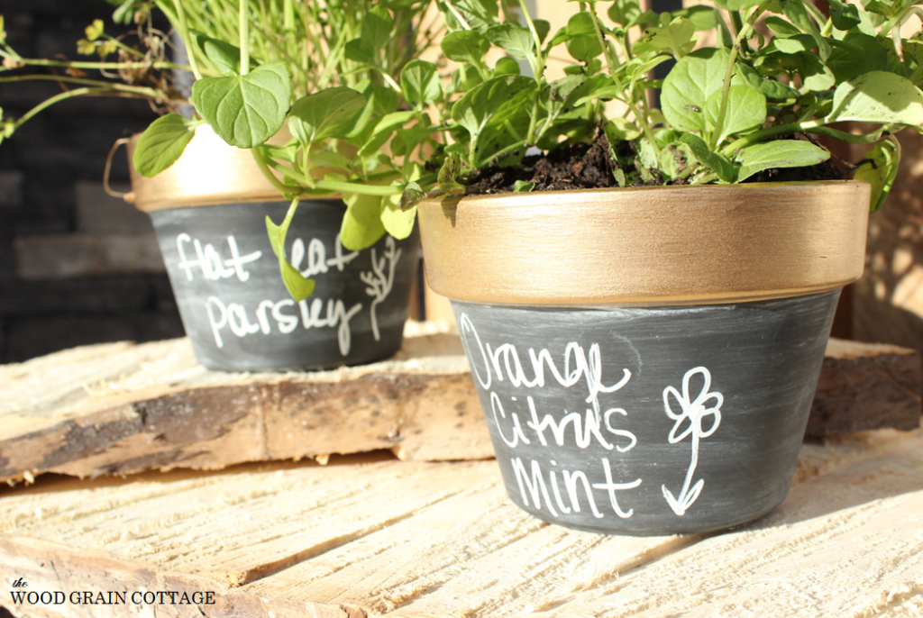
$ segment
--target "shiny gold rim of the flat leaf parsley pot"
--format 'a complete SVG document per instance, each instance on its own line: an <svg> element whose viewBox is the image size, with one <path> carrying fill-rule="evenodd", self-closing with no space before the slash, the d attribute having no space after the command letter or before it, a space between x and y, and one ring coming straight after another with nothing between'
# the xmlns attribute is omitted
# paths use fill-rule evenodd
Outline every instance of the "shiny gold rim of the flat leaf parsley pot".
<svg viewBox="0 0 923 618"><path fill-rule="evenodd" d="M129 161L138 137L132 137L128 143ZM289 138L283 129L270 139L270 144L282 145ZM259 171L249 150L228 145L209 125L199 126L182 156L153 178L142 176L132 167L131 188L135 206L145 212L284 199Z"/></svg>

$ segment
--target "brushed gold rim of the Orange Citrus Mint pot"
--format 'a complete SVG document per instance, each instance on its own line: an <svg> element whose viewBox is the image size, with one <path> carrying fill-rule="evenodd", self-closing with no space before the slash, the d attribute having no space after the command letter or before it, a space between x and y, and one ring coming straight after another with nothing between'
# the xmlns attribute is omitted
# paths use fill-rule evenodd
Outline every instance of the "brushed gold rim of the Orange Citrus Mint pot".
<svg viewBox="0 0 923 618"><path fill-rule="evenodd" d="M428 200L434 291L472 303L757 301L836 290L865 263L869 184L661 186Z"/></svg>

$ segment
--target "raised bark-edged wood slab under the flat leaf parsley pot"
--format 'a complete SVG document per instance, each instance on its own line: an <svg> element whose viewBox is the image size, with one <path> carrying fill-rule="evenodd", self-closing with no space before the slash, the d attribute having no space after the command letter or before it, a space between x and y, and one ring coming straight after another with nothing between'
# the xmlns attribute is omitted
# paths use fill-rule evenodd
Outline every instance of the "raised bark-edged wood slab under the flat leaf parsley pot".
<svg viewBox="0 0 923 618"><path fill-rule="evenodd" d="M917 426L919 352L831 346L809 434ZM411 324L390 361L330 372L210 372L186 339L0 366L0 481L382 448L413 460L492 457L461 341L444 327Z"/></svg>

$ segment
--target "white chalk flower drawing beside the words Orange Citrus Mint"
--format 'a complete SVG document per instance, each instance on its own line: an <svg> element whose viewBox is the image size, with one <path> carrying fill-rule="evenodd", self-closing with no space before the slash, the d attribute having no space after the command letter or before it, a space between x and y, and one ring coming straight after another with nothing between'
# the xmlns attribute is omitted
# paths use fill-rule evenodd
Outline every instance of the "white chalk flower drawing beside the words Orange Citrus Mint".
<svg viewBox="0 0 923 618"><path fill-rule="evenodd" d="M701 387L699 396L693 400L689 396L689 380L695 374L702 375L704 384ZM708 369L705 367L696 367L694 369L689 369L686 375L683 376L682 395L680 395L673 386L667 386L664 389L664 407L666 415L676 421L667 439L671 445L675 445L685 440L687 436L692 436L692 461L689 463L689 469L686 472L686 481L683 482L683 488L682 491L679 492L679 496L674 497L673 493L670 493L670 490L666 489L666 485L661 486L664 490L666 502L670 505L670 508L673 509L673 512L680 517L686 514L687 509L696 501L701 493L701 488L705 485L705 480L700 479L699 482L691 488L689 487L689 484L692 482L692 476L695 474L695 467L699 463L699 441L701 438L707 438L714 434L715 430L718 429L718 425L721 424L721 404L725 402L725 398L721 393L709 392L708 389L711 386L712 374L709 373ZM670 395L672 395L679 404L680 411L678 413L674 412L673 408L670 406ZM713 405L710 408L705 406L708 401L713 401ZM703 431L701 427L702 420L707 416L713 417L712 426L708 431ZM689 426L686 427L682 433L677 434L686 421L689 421Z"/></svg>

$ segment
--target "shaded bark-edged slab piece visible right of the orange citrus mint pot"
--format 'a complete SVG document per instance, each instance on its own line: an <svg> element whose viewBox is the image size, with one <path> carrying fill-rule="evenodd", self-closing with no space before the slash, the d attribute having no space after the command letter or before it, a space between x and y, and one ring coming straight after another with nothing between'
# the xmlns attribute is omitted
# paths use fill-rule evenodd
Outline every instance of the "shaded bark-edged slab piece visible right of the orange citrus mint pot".
<svg viewBox="0 0 923 618"><path fill-rule="evenodd" d="M923 413L920 352L831 339L811 406L807 435L915 429Z"/></svg>

